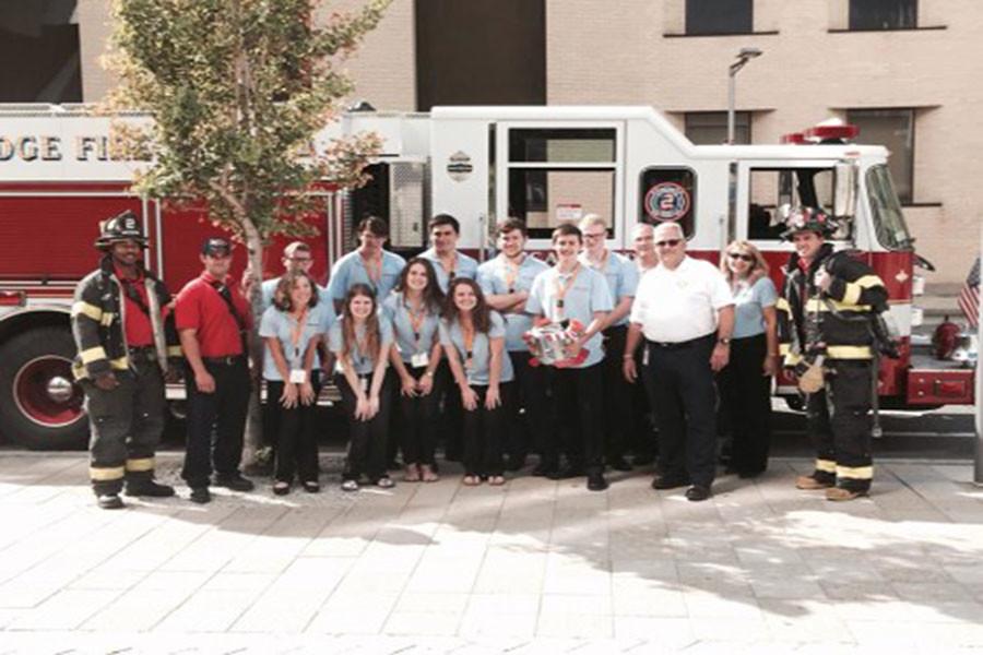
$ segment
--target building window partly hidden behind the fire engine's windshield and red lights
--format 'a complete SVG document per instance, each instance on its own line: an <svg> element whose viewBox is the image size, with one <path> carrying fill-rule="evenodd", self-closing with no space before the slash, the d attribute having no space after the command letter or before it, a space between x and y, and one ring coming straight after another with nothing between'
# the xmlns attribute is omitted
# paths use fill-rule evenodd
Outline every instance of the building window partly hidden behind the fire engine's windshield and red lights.
<svg viewBox="0 0 983 655"><path fill-rule="evenodd" d="M913 109L850 109L846 121L860 128L858 143L876 143L890 151L888 168L903 204L911 204L914 169Z"/></svg>

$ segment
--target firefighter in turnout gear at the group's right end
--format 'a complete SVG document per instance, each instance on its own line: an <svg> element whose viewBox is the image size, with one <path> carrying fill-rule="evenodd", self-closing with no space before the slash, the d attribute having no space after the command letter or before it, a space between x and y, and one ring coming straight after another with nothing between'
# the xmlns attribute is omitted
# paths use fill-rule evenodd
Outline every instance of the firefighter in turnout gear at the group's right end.
<svg viewBox="0 0 983 655"><path fill-rule="evenodd" d="M825 489L828 500L866 496L871 457L871 376L877 342L872 325L888 309L887 289L864 263L826 242L836 224L804 207L782 235L795 246L777 303L784 366L805 396L816 469L800 489Z"/></svg>

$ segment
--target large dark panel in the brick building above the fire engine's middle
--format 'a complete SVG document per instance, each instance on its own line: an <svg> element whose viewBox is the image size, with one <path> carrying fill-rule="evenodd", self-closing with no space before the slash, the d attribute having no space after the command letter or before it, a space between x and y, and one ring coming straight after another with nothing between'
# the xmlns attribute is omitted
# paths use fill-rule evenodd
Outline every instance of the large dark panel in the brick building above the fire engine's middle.
<svg viewBox="0 0 983 655"><path fill-rule="evenodd" d="M416 0L416 105L546 104L545 0Z"/></svg>

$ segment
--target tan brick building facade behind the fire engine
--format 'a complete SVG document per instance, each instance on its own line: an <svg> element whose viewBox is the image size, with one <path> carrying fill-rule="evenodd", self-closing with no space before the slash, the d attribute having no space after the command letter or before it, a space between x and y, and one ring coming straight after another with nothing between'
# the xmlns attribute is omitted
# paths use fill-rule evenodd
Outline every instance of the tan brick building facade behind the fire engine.
<svg viewBox="0 0 983 655"><path fill-rule="evenodd" d="M108 0L31 2L50 4L50 21L73 7L82 97L60 102L98 100L112 84L98 63ZM720 143L727 67L757 48L736 78L737 141L778 143L830 117L858 124L860 142L891 150L909 228L938 267L931 282L955 285L983 217L978 28L975 0L394 0L346 68L378 109L651 105L695 142Z"/></svg>

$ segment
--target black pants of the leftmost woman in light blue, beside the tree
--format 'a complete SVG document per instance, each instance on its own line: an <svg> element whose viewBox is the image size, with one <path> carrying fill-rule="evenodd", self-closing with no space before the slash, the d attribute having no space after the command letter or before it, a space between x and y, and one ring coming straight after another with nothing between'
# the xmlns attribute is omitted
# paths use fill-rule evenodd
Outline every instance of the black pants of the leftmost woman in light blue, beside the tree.
<svg viewBox="0 0 983 655"><path fill-rule="evenodd" d="M320 371L311 371L310 377L317 398L321 392ZM287 409L280 404L282 394L282 380L267 380L267 404L280 407L274 477L277 481L292 484L296 472L301 483L316 483L318 481L317 400L310 405L303 405L298 401L296 407Z"/></svg>

